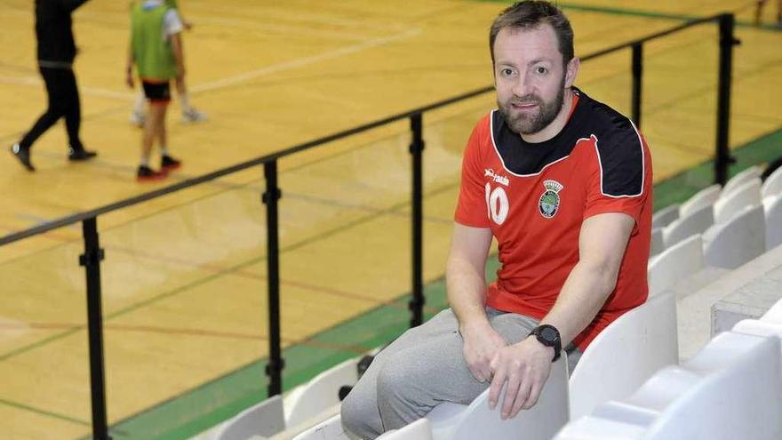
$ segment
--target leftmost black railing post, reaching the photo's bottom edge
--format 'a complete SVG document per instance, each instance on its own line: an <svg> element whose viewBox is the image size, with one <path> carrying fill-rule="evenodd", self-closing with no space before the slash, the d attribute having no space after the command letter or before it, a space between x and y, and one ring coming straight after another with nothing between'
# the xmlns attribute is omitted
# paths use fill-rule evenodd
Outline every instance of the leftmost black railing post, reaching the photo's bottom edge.
<svg viewBox="0 0 782 440"><path fill-rule="evenodd" d="M87 328L90 343L90 390L92 396L92 438L109 440L106 416L106 381L103 368L103 312L100 304L100 261L103 250L98 241L98 220L82 222L84 254L79 264L87 276Z"/></svg>

